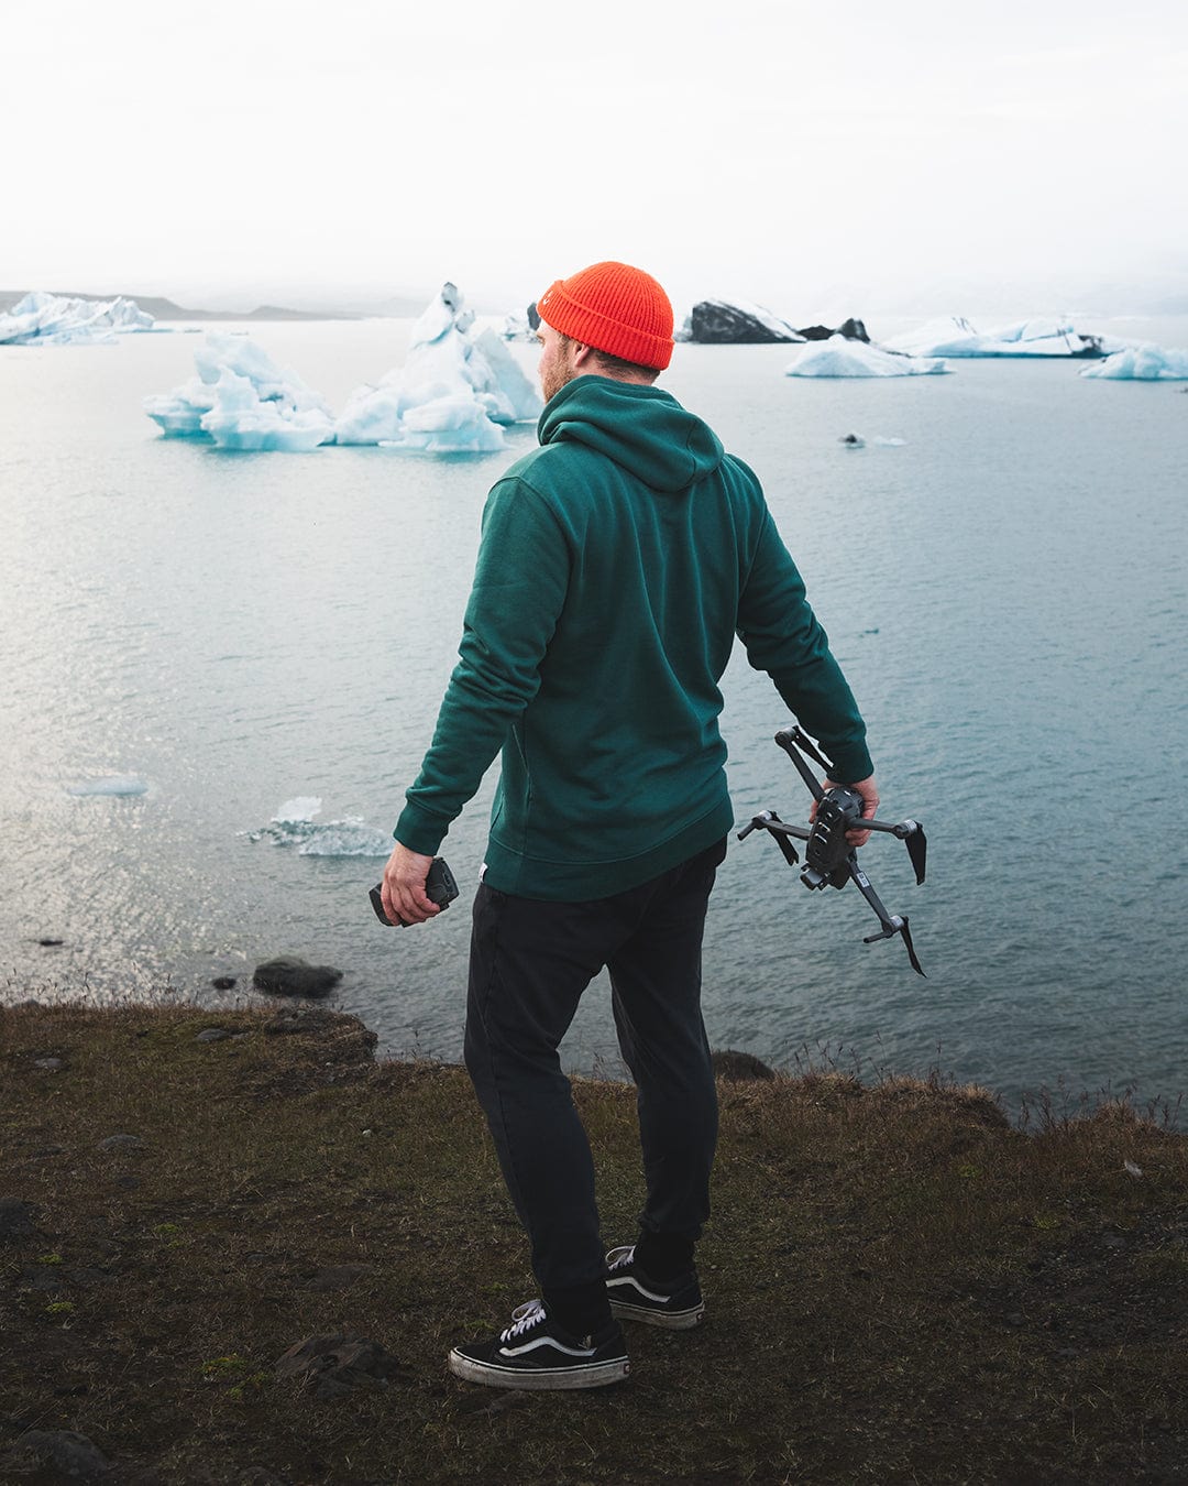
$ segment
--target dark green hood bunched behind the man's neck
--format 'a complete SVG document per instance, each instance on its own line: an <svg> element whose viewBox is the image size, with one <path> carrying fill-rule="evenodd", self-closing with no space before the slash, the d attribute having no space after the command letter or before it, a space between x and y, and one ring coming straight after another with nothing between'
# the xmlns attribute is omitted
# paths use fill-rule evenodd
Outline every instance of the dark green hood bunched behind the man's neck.
<svg viewBox="0 0 1188 1486"><path fill-rule="evenodd" d="M579 376L545 404L542 444L575 443L613 459L653 490L685 490L722 464L708 424L658 386Z"/></svg>

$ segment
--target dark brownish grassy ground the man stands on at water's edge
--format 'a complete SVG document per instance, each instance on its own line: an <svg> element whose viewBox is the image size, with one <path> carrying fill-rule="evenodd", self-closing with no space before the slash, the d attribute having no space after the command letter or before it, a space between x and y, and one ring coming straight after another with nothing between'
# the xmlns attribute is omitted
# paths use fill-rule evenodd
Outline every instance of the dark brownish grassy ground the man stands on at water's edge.
<svg viewBox="0 0 1188 1486"><path fill-rule="evenodd" d="M631 1328L621 1386L503 1394L444 1366L535 1293L465 1073L281 1025L0 1012L0 1199L34 1211L0 1238L0 1480L65 1479L30 1447L61 1430L135 1486L1188 1480L1184 1135L1120 1106L1025 1135L939 1082L722 1083L705 1324ZM633 1092L575 1097L630 1242ZM388 1383L276 1378L324 1334L382 1343Z"/></svg>

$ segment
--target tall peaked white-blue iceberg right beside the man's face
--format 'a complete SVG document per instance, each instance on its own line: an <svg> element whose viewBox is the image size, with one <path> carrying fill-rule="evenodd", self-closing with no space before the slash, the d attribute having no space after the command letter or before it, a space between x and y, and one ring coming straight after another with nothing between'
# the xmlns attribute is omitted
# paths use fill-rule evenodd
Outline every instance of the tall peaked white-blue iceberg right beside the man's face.
<svg viewBox="0 0 1188 1486"><path fill-rule="evenodd" d="M334 438L423 453L487 453L506 447L503 426L535 422L542 407L503 339L475 328L460 291L446 284L413 325L404 366L350 394Z"/></svg>

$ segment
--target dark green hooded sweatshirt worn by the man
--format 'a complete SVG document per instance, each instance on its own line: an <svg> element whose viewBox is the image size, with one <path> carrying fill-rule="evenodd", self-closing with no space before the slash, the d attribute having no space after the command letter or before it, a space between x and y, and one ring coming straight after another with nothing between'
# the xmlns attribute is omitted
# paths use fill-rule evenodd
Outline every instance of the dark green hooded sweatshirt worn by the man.
<svg viewBox="0 0 1188 1486"><path fill-rule="evenodd" d="M735 633L842 779L866 728L754 474L656 386L581 376L483 513L459 664L395 837L437 851L502 749L486 881L625 892L734 823Z"/></svg>

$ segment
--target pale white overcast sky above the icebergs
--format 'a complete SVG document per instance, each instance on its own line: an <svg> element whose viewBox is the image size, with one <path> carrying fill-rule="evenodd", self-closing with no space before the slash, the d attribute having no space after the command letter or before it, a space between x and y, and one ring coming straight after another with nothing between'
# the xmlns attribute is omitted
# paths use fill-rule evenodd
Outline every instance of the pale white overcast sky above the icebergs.
<svg viewBox="0 0 1188 1486"><path fill-rule="evenodd" d="M0 288L1188 290L1184 0L13 0L3 56Z"/></svg>

